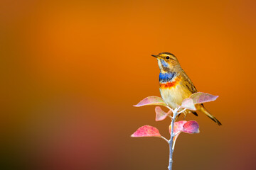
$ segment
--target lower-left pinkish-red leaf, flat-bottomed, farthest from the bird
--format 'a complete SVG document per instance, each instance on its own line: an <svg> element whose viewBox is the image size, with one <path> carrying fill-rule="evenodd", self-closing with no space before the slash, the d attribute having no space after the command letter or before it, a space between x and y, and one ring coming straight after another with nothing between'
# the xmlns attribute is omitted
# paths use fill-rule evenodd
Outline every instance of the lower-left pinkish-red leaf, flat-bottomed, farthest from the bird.
<svg viewBox="0 0 256 170"><path fill-rule="evenodd" d="M134 132L131 137L161 137L159 130L150 125L144 125L136 132Z"/></svg>

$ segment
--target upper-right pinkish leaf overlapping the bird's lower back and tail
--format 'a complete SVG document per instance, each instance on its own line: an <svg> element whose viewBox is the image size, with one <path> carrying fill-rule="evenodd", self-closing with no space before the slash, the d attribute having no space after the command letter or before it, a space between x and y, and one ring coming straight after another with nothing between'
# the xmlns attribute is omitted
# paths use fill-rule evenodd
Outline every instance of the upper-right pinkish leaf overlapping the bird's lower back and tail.
<svg viewBox="0 0 256 170"><path fill-rule="evenodd" d="M197 92L192 94L189 98L193 99L193 103L206 103L210 101L215 101L218 96L213 96L211 94L206 94L202 92Z"/></svg>

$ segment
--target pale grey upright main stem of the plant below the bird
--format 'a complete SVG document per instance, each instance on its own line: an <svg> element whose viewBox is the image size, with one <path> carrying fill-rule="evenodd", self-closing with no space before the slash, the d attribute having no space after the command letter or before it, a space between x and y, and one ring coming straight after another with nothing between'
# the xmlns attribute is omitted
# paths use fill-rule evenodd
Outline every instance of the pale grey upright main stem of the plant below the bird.
<svg viewBox="0 0 256 170"><path fill-rule="evenodd" d="M169 140L169 148L170 148L170 152L169 152L169 166L168 166L168 169L171 170L172 169L172 163L173 163L173 159L172 159L172 156L173 156L173 153L174 153L174 148L173 148L173 144L174 144L174 122L175 122L175 118L176 118L176 115L178 114L178 109L175 109L173 111L174 115L173 117L171 118L171 139Z"/></svg>

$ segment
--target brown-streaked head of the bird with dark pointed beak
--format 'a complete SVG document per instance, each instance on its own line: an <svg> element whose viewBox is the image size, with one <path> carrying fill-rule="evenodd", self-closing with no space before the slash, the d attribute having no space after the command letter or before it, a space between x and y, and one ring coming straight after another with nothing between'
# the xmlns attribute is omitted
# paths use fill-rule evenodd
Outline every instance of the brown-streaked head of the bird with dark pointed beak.
<svg viewBox="0 0 256 170"><path fill-rule="evenodd" d="M151 56L156 57L161 72L173 72L181 67L177 58L170 52L161 52Z"/></svg>

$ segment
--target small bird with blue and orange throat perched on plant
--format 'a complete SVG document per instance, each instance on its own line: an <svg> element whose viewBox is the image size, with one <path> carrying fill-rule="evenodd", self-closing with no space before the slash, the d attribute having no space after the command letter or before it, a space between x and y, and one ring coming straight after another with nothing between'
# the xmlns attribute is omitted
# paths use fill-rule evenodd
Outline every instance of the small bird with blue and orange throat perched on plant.
<svg viewBox="0 0 256 170"><path fill-rule="evenodd" d="M159 55L151 55L156 57L159 64L159 84L160 94L164 102L172 109L181 106L185 98L197 92L196 87L193 85L191 79L188 78L186 72L183 71L177 58L170 52L161 52ZM211 120L221 125L220 121L211 115L203 104L196 104L196 111L186 110L184 113L205 113Z"/></svg>

